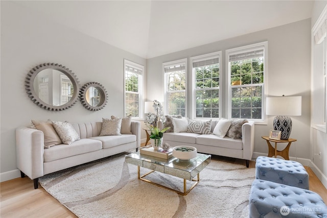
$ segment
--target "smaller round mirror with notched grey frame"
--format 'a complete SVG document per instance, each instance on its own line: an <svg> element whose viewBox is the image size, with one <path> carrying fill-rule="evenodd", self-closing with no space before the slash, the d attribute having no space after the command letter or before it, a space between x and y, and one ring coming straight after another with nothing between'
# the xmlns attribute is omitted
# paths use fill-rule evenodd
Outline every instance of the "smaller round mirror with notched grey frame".
<svg viewBox="0 0 327 218"><path fill-rule="evenodd" d="M86 109L98 111L107 104L107 92L100 83L86 83L80 90L80 99Z"/></svg>

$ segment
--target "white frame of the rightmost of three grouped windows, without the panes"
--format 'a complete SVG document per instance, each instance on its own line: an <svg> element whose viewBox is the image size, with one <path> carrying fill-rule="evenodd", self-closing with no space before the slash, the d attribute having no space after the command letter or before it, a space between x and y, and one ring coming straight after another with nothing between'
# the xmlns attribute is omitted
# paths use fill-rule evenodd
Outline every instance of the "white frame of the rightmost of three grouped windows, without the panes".
<svg viewBox="0 0 327 218"><path fill-rule="evenodd" d="M263 41L259 43L254 43L254 44L249 44L249 45L244 45L240 47L235 47L233 49L228 49L225 51L225 66L226 66L226 80L225 80L225 85L226 85L226 90L227 90L227 98L226 98L226 114L227 118L231 119L231 99L232 99L232 87L231 86L231 72L230 72L230 63L229 63L229 56L231 54L240 54L240 53L245 53L245 52L251 52L255 50L259 50L260 47L264 48L264 81L262 83L262 109L261 109L261 119L252 119L252 118L246 118L248 120L252 120L255 122L255 124L267 124L267 114L266 114L266 97L267 97L267 90L268 90L268 41ZM247 84L247 85L242 85L240 87L249 87L249 86L258 86L256 84Z"/></svg>

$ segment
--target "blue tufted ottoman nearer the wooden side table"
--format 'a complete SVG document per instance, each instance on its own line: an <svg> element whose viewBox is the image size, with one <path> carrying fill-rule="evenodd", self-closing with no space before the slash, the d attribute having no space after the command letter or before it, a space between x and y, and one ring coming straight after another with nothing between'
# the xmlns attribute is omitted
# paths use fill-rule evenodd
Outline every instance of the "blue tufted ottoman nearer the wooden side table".
<svg viewBox="0 0 327 218"><path fill-rule="evenodd" d="M256 158L255 178L309 190L309 175L299 162L278 158Z"/></svg>

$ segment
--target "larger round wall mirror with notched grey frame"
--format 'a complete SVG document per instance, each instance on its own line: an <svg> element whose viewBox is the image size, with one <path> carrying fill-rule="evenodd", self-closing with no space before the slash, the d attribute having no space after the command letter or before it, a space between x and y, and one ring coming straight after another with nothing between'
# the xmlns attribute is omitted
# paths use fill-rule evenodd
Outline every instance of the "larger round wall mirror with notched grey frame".
<svg viewBox="0 0 327 218"><path fill-rule="evenodd" d="M25 86L31 100L46 110L60 111L78 100L79 84L74 73L62 65L43 63L30 70Z"/></svg>

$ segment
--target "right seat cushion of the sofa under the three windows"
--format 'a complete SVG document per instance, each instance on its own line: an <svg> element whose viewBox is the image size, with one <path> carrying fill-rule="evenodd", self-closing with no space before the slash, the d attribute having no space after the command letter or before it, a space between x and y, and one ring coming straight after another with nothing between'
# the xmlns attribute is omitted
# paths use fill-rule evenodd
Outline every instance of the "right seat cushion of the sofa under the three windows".
<svg viewBox="0 0 327 218"><path fill-rule="evenodd" d="M197 144L204 144L206 146L215 146L221 148L228 148L228 149L243 149L242 139L232 139L229 137L221 138L217 135L199 135L196 138Z"/></svg>

